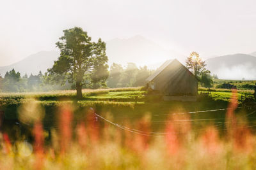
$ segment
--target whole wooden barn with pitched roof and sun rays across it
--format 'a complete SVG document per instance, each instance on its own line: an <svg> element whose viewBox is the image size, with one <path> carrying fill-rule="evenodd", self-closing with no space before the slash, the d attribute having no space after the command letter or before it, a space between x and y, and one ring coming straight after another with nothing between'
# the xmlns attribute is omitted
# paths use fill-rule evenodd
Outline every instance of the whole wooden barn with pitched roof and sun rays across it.
<svg viewBox="0 0 256 170"><path fill-rule="evenodd" d="M147 78L148 88L167 101L196 101L198 78L177 59L167 60Z"/></svg>

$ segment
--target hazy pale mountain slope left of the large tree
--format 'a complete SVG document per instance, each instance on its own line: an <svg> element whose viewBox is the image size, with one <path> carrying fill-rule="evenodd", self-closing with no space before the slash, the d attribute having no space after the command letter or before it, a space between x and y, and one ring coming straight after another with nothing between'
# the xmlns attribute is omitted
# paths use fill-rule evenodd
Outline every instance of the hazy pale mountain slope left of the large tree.
<svg viewBox="0 0 256 170"><path fill-rule="evenodd" d="M15 69L15 71L19 71L21 75L24 74L38 74L39 71L44 73L48 68L52 67L54 60L58 59L59 53L56 51L49 52L38 52L33 55L29 55L23 60L19 62L15 62L10 66L2 66L0 67L0 74L4 76L6 71L10 71L11 69Z"/></svg>

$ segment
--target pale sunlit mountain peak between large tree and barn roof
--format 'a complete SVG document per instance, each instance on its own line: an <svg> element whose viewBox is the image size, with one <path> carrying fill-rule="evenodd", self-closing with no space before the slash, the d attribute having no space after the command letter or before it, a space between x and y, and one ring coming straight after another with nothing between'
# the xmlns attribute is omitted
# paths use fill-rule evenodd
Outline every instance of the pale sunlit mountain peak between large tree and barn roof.
<svg viewBox="0 0 256 170"><path fill-rule="evenodd" d="M164 61L177 57L177 53L140 35L127 39L115 38L106 44L109 64L116 62L125 65L127 62L135 62L138 66L155 68Z"/></svg>

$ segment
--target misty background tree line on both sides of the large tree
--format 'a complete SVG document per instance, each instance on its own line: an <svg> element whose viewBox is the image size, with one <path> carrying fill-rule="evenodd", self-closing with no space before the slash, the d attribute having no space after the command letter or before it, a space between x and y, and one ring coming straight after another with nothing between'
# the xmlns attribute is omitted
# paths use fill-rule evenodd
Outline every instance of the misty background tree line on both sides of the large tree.
<svg viewBox="0 0 256 170"><path fill-rule="evenodd" d="M96 72L96 71L95 71ZM99 79L97 73L88 74L86 82L82 88L98 89L98 88L115 88L115 87L138 87L143 86L145 81L152 73L147 66L137 67L136 64L129 62L127 66L113 63L106 71L108 78ZM96 77L96 78L95 78ZM98 78L97 78L98 77ZM99 80L99 81L97 81ZM25 74L21 76L19 71L12 69L7 71L2 77L0 75L0 92L38 92L49 90L75 90L76 84L70 83L68 80L58 83L49 73L42 74Z"/></svg>

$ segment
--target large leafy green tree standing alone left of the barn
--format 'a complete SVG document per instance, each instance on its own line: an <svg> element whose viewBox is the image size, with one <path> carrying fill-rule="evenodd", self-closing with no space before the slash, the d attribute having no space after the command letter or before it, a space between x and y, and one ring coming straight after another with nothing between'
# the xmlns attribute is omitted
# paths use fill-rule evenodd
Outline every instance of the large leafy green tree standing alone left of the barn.
<svg viewBox="0 0 256 170"><path fill-rule="evenodd" d="M93 75L95 66L106 66L106 43L101 39L92 41L86 31L79 27L63 31L56 46L60 48L60 57L54 62L49 75L63 84L68 80L76 84L77 97L82 97L82 87L88 81L88 75ZM99 80L99 79L98 79Z"/></svg>

